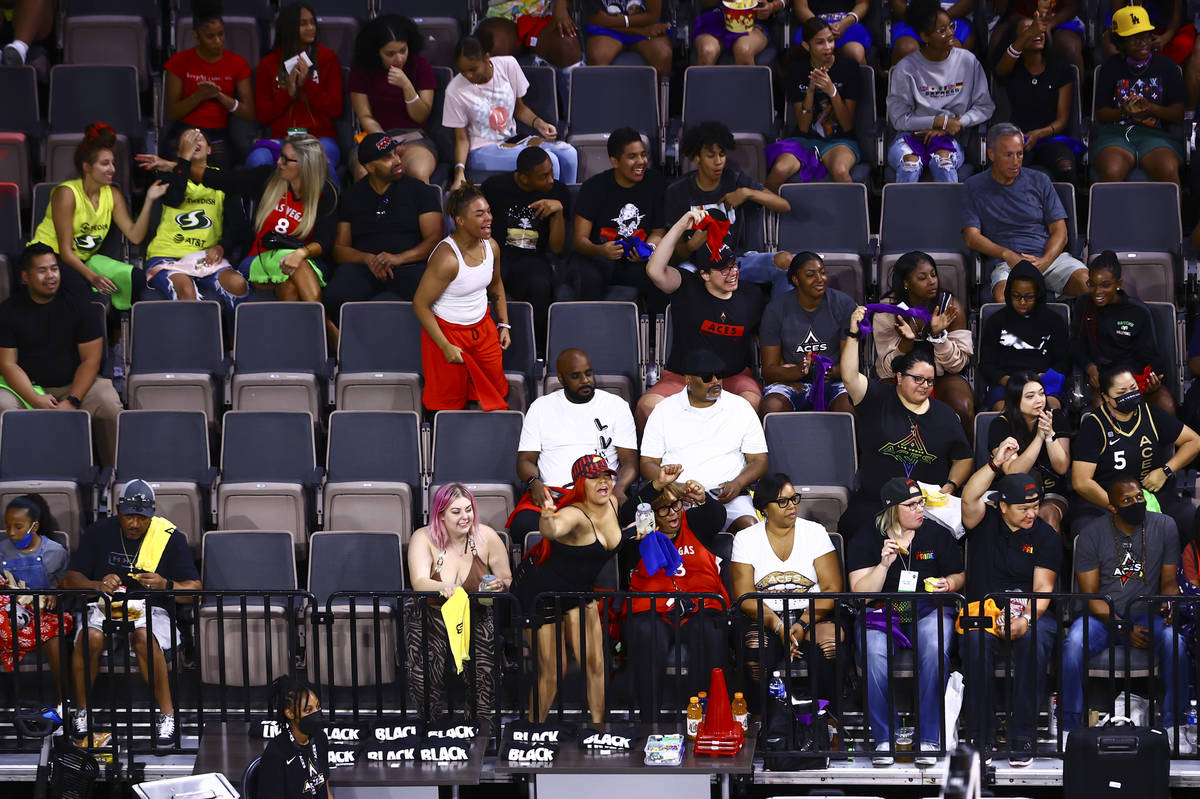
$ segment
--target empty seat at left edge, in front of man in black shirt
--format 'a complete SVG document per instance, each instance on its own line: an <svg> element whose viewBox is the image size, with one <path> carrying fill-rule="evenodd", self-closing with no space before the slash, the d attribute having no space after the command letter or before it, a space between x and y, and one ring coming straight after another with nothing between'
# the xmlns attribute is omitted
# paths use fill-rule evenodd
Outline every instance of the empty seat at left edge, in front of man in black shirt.
<svg viewBox="0 0 1200 799"><path fill-rule="evenodd" d="M91 417L86 411L0 414L0 506L7 507L20 494L41 494L74 551L98 505L100 483L100 468L92 465Z"/></svg>

